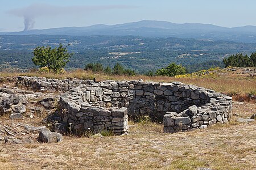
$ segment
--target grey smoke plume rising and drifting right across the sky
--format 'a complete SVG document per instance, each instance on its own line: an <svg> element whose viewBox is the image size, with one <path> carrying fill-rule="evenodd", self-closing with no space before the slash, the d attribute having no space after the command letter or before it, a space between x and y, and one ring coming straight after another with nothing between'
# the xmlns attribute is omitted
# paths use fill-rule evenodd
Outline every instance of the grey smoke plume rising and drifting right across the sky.
<svg viewBox="0 0 256 170"><path fill-rule="evenodd" d="M136 6L110 5L110 6L52 6L47 4L34 4L28 7L15 8L7 11L7 14L18 16L24 19L24 31L34 28L36 18L40 16L58 16L58 15L80 15L97 10L126 9Z"/></svg>

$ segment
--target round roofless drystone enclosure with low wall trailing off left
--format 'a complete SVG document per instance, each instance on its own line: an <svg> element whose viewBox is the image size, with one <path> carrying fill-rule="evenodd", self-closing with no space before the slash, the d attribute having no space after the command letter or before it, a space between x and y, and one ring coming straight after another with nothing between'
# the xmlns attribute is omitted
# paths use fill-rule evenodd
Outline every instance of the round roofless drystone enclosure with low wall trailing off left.
<svg viewBox="0 0 256 170"><path fill-rule="evenodd" d="M227 123L232 97L180 82L143 80L47 79L18 76L16 84L34 91L59 91L61 123L72 131L129 130L128 118L149 116L163 122L164 133Z"/></svg>

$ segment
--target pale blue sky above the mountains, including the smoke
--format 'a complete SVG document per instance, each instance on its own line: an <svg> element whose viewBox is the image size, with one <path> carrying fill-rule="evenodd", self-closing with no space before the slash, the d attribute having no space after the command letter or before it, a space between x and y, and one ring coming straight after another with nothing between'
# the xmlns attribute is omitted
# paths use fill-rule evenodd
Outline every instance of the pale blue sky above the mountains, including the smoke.
<svg viewBox="0 0 256 170"><path fill-rule="evenodd" d="M23 31L140 20L256 25L255 0L0 0L0 31Z"/></svg>

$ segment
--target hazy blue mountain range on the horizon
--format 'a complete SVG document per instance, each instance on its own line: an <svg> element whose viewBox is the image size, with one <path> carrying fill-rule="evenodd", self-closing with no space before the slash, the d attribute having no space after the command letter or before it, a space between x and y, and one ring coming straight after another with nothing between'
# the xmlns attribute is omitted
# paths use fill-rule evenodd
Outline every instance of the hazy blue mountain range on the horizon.
<svg viewBox="0 0 256 170"><path fill-rule="evenodd" d="M143 37L177 37L207 40L225 40L235 42L256 42L256 27L226 28L212 24L177 24L171 22L142 20L140 22L89 27L64 27L50 29L32 29L21 32L0 32L0 35L69 35L69 36L143 36Z"/></svg>

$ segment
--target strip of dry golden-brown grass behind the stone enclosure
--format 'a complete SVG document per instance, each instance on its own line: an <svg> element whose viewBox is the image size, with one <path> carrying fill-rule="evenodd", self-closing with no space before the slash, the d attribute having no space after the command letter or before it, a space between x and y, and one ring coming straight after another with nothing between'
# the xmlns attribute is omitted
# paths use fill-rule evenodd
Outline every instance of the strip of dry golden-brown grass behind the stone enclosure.
<svg viewBox="0 0 256 170"><path fill-rule="evenodd" d="M233 95L245 95L245 94L256 94L256 77L251 78L243 74L234 74L225 72L224 75L214 74L209 77L197 77L197 78L174 78L168 76L125 76L125 75L104 75L104 74L93 74L90 71L84 71L77 69L75 71L68 71L65 74L53 74L53 73L0 73L0 76L45 76L47 78L79 78L79 79L93 79L97 81L112 79L112 80L133 80L143 79L144 81L155 81L155 82L183 82L185 84L194 84L205 88L212 89L217 92L223 92L226 94Z"/></svg>

